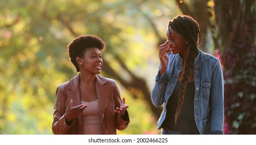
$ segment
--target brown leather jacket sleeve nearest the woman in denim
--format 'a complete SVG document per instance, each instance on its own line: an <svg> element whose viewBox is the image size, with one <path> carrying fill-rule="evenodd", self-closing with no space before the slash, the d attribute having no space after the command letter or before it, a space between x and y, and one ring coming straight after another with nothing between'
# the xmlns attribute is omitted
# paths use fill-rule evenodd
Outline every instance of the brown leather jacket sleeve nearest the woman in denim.
<svg viewBox="0 0 256 145"><path fill-rule="evenodd" d="M114 94L115 108L117 108L117 107L120 107L120 104L122 103L122 99L120 97L120 93L115 81L114 81L113 88L114 88L113 94ZM124 130L130 122L128 111L126 110L124 118L121 118L120 115L117 115L115 113L115 122L116 122L116 129Z"/></svg>

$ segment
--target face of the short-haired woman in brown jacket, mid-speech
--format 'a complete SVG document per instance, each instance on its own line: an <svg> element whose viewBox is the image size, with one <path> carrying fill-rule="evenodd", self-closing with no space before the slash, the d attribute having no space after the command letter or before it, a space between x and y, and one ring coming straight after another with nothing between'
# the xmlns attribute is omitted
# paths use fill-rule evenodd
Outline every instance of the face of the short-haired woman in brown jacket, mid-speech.
<svg viewBox="0 0 256 145"><path fill-rule="evenodd" d="M79 58L80 72L89 72L92 75L100 74L103 64L102 55L98 48L93 47L85 51L84 57ZM80 65L82 63L82 65Z"/></svg>

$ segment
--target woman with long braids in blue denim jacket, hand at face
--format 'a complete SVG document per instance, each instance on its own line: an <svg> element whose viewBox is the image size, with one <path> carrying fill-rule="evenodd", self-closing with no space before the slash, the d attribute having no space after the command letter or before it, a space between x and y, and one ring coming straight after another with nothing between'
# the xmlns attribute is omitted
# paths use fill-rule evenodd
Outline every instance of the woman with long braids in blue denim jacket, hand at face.
<svg viewBox="0 0 256 145"><path fill-rule="evenodd" d="M223 134L222 67L217 57L199 50L199 24L190 16L177 16L166 36L151 92L156 107L164 104L157 129L163 135Z"/></svg>

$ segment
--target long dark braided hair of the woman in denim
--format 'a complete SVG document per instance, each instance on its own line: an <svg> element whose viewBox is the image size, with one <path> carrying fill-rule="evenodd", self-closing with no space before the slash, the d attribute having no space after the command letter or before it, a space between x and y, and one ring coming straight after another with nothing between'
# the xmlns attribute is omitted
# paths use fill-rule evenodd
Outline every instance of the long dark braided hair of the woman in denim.
<svg viewBox="0 0 256 145"><path fill-rule="evenodd" d="M194 62L196 55L198 53L198 48L200 46L200 28L199 24L190 16L177 16L174 17L168 24L168 29L170 33L170 28L179 33L184 39L187 40L188 45L190 45L190 53L188 54L185 66L185 72L181 80L181 89L179 93L179 103L175 114L175 124L179 117L181 107L184 103L184 96L186 90L186 84L188 78L190 78L191 73L195 69ZM171 33L170 33L171 34Z"/></svg>

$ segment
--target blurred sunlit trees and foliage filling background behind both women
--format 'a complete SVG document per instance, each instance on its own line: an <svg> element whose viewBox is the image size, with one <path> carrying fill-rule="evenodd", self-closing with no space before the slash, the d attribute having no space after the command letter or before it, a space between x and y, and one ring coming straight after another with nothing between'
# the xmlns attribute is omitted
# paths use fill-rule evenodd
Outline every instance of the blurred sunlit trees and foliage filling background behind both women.
<svg viewBox="0 0 256 145"><path fill-rule="evenodd" d="M101 75L129 105L131 122L118 134L159 134L162 108L150 98L156 54L168 21L182 14L198 20L200 49L223 55L225 133L255 134L255 1L16 0L0 9L0 134L52 134L56 88L77 74L66 46L84 34L106 42Z"/></svg>

